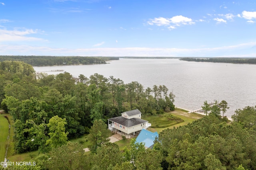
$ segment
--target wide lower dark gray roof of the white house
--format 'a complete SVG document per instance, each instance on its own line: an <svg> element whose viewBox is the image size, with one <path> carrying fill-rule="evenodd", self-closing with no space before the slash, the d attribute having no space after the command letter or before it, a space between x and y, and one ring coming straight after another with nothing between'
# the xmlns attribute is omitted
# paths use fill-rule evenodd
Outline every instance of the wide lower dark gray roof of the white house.
<svg viewBox="0 0 256 170"><path fill-rule="evenodd" d="M113 117L111 119L108 119L110 121L113 121L115 123L118 123L120 125L123 125L125 127L133 127L135 125L140 125L142 123L148 122L143 119L139 118L132 118L132 119L127 119L125 117L119 116L119 117Z"/></svg>

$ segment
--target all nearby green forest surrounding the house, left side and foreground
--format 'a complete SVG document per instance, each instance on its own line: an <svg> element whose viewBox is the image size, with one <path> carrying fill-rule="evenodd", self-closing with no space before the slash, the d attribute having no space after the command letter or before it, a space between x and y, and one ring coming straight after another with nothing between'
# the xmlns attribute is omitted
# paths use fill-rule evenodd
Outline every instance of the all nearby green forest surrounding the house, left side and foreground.
<svg viewBox="0 0 256 170"><path fill-rule="evenodd" d="M144 89L136 81L124 84L97 73L78 79L66 72L36 75L22 61L0 65L5 68L0 69L0 102L14 121L14 148L17 153L41 153L31 160L36 166L27 169L256 169L256 107L236 110L233 122L223 119L216 107L186 126L163 130L153 149L132 139L121 151L106 139L106 120L131 109L150 115L173 111L175 95L166 86ZM202 108L207 106L205 102ZM82 144L68 142L85 133L92 142L90 154L84 154Z"/></svg>

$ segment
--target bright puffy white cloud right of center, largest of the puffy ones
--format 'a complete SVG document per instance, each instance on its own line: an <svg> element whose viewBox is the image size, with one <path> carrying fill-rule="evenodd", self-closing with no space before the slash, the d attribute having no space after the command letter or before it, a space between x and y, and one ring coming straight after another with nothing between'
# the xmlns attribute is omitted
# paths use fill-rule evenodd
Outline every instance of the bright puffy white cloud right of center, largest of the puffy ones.
<svg viewBox="0 0 256 170"><path fill-rule="evenodd" d="M147 22L149 25L157 25L157 26L169 26L169 29L177 28L177 26L187 25L187 24L195 24L191 18L187 18L184 16L174 16L172 18L154 18L150 19Z"/></svg>

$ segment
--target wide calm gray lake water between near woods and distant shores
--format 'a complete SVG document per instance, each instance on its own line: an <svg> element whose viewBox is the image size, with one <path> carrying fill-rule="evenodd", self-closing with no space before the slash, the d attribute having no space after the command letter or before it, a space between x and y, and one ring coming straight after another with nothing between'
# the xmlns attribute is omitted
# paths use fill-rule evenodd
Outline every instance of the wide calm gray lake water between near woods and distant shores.
<svg viewBox="0 0 256 170"><path fill-rule="evenodd" d="M123 59L104 65L67 65L34 67L35 71L62 69L74 77L94 73L114 76L130 83L138 81L144 88L165 85L176 95L176 107L189 111L199 109L204 101L228 102L226 116L236 109L256 105L256 65L200 63L178 59ZM61 72L49 72L58 74Z"/></svg>

